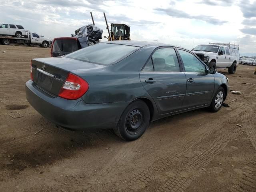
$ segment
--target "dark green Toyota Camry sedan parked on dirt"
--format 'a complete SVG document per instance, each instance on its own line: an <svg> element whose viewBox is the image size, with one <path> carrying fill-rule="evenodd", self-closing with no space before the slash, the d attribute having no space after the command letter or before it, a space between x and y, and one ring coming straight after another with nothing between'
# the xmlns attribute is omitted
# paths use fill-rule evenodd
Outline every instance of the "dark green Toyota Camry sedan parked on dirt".
<svg viewBox="0 0 256 192"><path fill-rule="evenodd" d="M113 128L124 140L166 116L217 112L229 91L228 78L196 54L153 42L101 42L32 59L30 76L26 98L42 116L73 130Z"/></svg>

